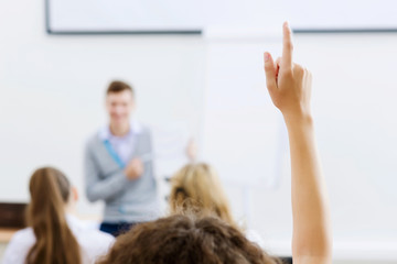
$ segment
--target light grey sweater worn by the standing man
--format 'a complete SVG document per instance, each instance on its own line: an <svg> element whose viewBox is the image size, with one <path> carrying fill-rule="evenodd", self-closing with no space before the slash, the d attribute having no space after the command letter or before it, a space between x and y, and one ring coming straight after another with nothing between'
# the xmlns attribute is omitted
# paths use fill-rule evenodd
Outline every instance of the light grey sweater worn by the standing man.
<svg viewBox="0 0 397 264"><path fill-rule="evenodd" d="M148 155L152 155L151 138L149 130L143 129L137 134L131 158ZM95 134L87 142L84 165L88 200L105 201L104 222L143 222L158 218L152 161L143 162L144 170L140 178L129 180Z"/></svg>

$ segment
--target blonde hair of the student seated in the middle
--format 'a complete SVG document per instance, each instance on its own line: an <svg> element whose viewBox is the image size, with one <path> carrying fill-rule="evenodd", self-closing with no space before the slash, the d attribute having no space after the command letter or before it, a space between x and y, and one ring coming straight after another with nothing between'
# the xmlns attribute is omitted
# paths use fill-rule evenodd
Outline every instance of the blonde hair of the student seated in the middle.
<svg viewBox="0 0 397 264"><path fill-rule="evenodd" d="M237 228L215 169L205 163L187 164L171 178L171 213L197 211L213 215Z"/></svg>

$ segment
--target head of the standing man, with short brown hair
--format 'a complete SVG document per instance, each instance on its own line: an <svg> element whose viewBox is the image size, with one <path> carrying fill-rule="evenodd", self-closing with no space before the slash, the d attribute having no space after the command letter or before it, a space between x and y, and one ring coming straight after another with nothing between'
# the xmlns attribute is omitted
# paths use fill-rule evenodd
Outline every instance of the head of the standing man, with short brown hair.
<svg viewBox="0 0 397 264"><path fill-rule="evenodd" d="M135 91L124 81L114 80L106 90L106 110L110 125L128 125L135 110Z"/></svg>

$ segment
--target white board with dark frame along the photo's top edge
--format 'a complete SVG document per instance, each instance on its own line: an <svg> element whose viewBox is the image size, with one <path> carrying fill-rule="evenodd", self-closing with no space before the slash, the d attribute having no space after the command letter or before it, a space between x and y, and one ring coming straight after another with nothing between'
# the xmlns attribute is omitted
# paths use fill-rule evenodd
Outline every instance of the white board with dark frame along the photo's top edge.
<svg viewBox="0 0 397 264"><path fill-rule="evenodd" d="M49 33L201 33L288 20L296 31L393 31L391 0L46 0Z"/></svg>

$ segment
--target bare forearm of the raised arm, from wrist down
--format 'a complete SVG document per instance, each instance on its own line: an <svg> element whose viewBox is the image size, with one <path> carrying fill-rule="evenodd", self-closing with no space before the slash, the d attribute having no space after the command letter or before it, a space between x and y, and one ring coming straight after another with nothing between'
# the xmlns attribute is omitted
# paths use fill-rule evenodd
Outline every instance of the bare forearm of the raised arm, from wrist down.
<svg viewBox="0 0 397 264"><path fill-rule="evenodd" d="M330 255L329 206L312 118L285 120L291 154L293 255Z"/></svg>

